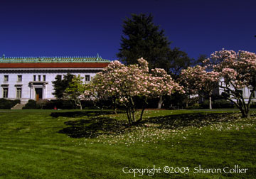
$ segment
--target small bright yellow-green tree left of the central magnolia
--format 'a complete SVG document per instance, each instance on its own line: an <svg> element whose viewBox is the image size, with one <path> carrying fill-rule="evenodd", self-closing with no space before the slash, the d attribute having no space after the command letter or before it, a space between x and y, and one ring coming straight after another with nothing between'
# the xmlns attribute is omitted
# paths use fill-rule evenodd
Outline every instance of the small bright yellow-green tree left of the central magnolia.
<svg viewBox="0 0 256 179"><path fill-rule="evenodd" d="M85 84L83 84L82 79L83 77L80 77L80 75L74 76L63 93L63 98L73 100L75 105L80 107L80 110L82 110L81 99L84 98L85 92Z"/></svg>

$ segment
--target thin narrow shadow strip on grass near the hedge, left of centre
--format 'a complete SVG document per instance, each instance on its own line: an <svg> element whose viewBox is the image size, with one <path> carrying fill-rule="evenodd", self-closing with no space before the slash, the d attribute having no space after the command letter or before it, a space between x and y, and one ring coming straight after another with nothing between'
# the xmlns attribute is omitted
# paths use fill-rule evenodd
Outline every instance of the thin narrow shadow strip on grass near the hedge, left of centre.
<svg viewBox="0 0 256 179"><path fill-rule="evenodd" d="M118 112L121 113L121 112ZM105 114L114 114L113 111L82 111L82 112L52 112L50 116L59 117L80 117L80 116L99 116Z"/></svg>

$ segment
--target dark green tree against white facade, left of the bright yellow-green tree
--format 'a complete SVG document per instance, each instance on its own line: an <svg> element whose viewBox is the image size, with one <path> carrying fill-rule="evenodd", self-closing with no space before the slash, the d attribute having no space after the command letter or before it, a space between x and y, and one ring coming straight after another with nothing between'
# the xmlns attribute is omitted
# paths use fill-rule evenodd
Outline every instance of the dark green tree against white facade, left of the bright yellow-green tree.
<svg viewBox="0 0 256 179"><path fill-rule="evenodd" d="M53 95L58 99L62 99L63 93L65 92L65 89L68 87L69 83L72 81L73 77L74 75L70 73L64 75L63 79L61 79L61 75L57 75L55 77L55 81L53 81Z"/></svg>

